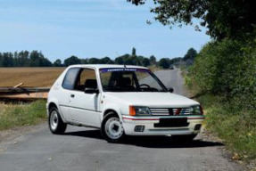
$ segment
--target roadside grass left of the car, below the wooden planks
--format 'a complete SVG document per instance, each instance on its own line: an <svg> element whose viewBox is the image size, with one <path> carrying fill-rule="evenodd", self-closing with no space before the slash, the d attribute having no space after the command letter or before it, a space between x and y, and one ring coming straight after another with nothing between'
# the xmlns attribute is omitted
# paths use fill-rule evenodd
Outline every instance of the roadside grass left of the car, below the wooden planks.
<svg viewBox="0 0 256 171"><path fill-rule="evenodd" d="M29 104L0 104L0 131L15 126L36 125L47 118L45 101Z"/></svg>

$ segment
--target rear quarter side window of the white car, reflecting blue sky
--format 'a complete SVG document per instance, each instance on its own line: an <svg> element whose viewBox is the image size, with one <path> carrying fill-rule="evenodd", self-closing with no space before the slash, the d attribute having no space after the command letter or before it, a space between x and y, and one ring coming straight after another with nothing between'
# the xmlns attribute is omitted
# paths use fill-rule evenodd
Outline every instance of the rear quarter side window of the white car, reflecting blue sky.
<svg viewBox="0 0 256 171"><path fill-rule="evenodd" d="M64 77L62 87L68 90L74 89L75 80L78 75L78 68L69 69L66 73L66 76Z"/></svg>

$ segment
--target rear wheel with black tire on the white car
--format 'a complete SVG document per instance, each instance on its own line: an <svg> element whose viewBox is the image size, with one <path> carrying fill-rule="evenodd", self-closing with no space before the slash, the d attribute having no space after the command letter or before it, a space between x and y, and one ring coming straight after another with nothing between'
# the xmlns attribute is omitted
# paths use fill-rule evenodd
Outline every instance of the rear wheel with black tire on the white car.
<svg viewBox="0 0 256 171"><path fill-rule="evenodd" d="M53 134L63 134L67 128L67 124L63 122L59 110L56 107L50 109L48 126Z"/></svg>

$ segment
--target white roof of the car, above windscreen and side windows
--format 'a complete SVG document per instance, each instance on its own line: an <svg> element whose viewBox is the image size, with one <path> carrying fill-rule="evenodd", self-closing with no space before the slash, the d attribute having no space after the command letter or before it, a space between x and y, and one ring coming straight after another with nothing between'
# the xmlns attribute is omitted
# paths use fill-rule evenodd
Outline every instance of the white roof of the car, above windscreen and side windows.
<svg viewBox="0 0 256 171"><path fill-rule="evenodd" d="M95 69L113 69L113 68L130 68L130 69L147 69L145 67L141 67L141 66L136 66L136 65L114 65L114 64L82 64L82 65L70 65L69 68L75 68L75 67L79 67L79 68L95 68Z"/></svg>

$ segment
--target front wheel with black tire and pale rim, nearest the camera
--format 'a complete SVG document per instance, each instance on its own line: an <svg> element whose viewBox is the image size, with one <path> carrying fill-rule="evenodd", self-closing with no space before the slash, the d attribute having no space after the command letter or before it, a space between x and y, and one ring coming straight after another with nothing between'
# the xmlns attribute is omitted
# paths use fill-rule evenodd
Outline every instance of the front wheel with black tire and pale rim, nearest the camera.
<svg viewBox="0 0 256 171"><path fill-rule="evenodd" d="M101 132L108 142L120 142L125 136L120 118L114 112L107 113L103 118Z"/></svg>

